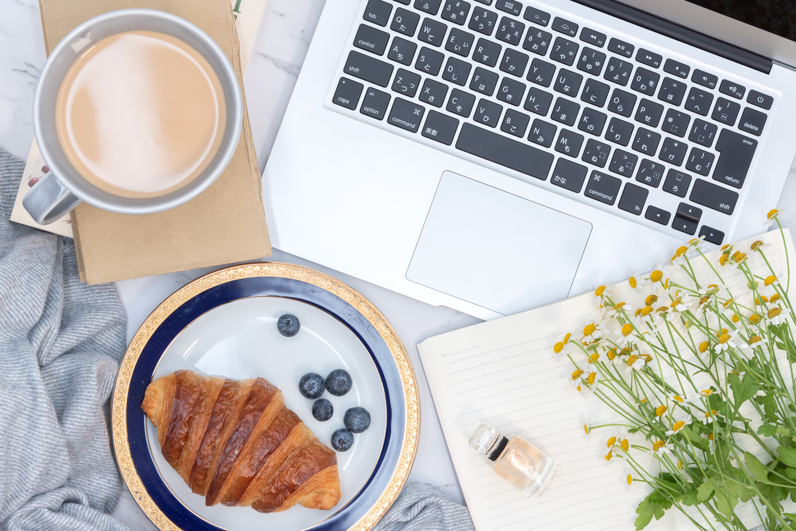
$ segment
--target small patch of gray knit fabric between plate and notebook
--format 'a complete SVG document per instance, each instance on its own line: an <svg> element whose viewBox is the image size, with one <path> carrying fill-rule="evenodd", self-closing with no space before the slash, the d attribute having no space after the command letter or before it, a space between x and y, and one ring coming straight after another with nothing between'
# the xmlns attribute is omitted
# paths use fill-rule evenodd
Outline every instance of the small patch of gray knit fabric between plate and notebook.
<svg viewBox="0 0 796 531"><path fill-rule="evenodd" d="M465 506L404 486L373 531L474 531Z"/></svg>

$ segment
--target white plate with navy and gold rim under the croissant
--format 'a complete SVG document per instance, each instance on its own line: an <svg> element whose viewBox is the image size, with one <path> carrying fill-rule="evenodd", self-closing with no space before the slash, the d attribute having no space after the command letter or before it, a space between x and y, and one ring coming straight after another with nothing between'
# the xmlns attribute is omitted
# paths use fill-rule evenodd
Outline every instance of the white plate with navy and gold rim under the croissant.
<svg viewBox="0 0 796 531"><path fill-rule="evenodd" d="M279 334L276 320L298 316L298 335ZM298 392L302 374L348 370L352 390L325 393L330 421L311 413ZM345 410L361 405L371 426L338 452L341 500L331 510L261 514L250 507L205 506L163 459L157 431L143 414L146 386L174 370L228 378L266 378L324 444L343 427ZM395 501L419 437L419 397L412 364L392 326L355 290L324 273L272 262L220 269L164 300L135 333L113 396L116 459L136 502L164 531L367 531Z"/></svg>

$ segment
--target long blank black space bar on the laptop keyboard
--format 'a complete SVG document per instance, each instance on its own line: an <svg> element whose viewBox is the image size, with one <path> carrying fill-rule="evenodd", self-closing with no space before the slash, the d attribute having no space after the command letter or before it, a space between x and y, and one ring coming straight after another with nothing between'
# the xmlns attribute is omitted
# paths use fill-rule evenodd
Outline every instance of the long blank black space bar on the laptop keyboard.
<svg viewBox="0 0 796 531"><path fill-rule="evenodd" d="M456 141L456 149L541 180L547 180L553 160L551 153L470 123L462 126Z"/></svg>

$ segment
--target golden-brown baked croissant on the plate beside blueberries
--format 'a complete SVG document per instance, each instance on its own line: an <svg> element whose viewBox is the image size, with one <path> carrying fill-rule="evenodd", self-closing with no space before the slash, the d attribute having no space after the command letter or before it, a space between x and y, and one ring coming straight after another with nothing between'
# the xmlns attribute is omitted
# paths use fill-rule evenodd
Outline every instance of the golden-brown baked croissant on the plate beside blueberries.
<svg viewBox="0 0 796 531"><path fill-rule="evenodd" d="M337 455L264 378L178 370L150 383L141 407L163 457L208 506L271 513L340 501Z"/></svg>

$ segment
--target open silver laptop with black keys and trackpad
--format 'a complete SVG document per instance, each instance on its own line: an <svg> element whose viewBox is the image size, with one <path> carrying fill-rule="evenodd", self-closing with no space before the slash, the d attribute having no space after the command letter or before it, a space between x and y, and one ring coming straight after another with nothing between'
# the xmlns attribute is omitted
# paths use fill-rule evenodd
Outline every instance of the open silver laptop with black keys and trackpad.
<svg viewBox="0 0 796 531"><path fill-rule="evenodd" d="M271 242L491 319L759 234L796 155L796 6L763 5L326 0Z"/></svg>

